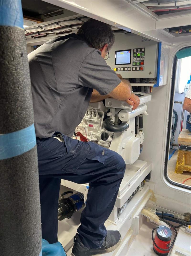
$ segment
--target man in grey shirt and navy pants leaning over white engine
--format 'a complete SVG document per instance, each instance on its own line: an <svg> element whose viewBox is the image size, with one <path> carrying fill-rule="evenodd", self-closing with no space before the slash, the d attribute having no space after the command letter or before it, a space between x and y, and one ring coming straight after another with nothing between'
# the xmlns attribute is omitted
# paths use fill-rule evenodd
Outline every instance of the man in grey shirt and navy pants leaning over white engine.
<svg viewBox="0 0 191 256"><path fill-rule="evenodd" d="M114 43L111 26L89 20L77 35L51 39L28 56L39 165L42 237L57 242L61 179L89 183L86 207L74 239L73 254L95 255L115 250L118 231L106 231L125 172L116 152L96 143L71 139L90 100L108 97L139 105L128 81L104 58Z"/></svg>

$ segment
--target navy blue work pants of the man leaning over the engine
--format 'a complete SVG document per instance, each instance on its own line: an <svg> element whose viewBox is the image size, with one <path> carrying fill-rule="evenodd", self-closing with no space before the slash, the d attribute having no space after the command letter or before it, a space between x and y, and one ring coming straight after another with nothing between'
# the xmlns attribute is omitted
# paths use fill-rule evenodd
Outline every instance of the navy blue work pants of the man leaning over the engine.
<svg viewBox="0 0 191 256"><path fill-rule="evenodd" d="M37 138L42 238L57 242L58 199L61 179L89 183L86 207L77 229L85 246L98 248L106 236L104 222L110 215L125 172L123 158L93 142L63 135Z"/></svg>

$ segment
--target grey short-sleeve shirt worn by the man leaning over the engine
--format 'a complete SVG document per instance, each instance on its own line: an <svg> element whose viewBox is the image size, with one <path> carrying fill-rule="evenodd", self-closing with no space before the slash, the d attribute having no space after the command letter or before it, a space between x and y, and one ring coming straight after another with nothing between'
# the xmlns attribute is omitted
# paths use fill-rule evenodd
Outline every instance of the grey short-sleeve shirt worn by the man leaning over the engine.
<svg viewBox="0 0 191 256"><path fill-rule="evenodd" d="M56 37L28 55L36 136L56 131L72 136L88 108L93 89L110 93L121 80L76 34Z"/></svg>

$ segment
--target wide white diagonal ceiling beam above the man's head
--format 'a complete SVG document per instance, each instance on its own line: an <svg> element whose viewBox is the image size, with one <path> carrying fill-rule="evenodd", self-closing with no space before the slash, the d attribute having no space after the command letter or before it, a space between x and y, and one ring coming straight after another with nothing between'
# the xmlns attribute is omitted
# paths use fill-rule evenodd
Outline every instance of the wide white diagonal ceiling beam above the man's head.
<svg viewBox="0 0 191 256"><path fill-rule="evenodd" d="M147 37L149 39L172 44L172 38L157 31L155 22L157 15L148 16L142 4L142 9L124 0L43 0L59 7L71 10L81 15L100 20L112 26ZM101 8L100 8L101 6ZM144 7L143 7L144 6ZM146 9L145 9L146 8Z"/></svg>

